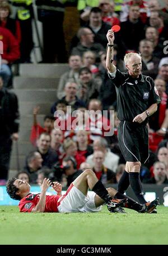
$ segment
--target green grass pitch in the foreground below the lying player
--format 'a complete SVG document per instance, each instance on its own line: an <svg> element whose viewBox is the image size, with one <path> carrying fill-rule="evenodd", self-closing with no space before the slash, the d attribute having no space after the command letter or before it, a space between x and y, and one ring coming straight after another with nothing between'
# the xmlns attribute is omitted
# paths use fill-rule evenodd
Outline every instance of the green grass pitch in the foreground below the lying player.
<svg viewBox="0 0 168 256"><path fill-rule="evenodd" d="M126 209L127 210L127 209ZM119 245L168 244L168 208L157 214L19 213L0 206L0 244Z"/></svg>

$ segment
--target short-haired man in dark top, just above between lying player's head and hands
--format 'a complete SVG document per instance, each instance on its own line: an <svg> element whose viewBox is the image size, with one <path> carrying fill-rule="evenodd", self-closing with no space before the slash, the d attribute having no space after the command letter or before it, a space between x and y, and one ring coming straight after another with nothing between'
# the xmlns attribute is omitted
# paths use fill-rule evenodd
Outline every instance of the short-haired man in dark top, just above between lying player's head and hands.
<svg viewBox="0 0 168 256"><path fill-rule="evenodd" d="M30 182L36 183L38 177L38 170L42 167L43 159L37 151L30 152L26 158L25 172L29 174Z"/></svg>

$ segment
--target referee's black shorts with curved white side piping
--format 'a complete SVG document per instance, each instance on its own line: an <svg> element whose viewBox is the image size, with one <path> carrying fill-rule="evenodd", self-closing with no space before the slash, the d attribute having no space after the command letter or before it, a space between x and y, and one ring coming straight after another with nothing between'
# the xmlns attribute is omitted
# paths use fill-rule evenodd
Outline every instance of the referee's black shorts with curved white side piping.
<svg viewBox="0 0 168 256"><path fill-rule="evenodd" d="M122 121L118 128L118 141L125 161L141 161L149 158L148 127Z"/></svg>

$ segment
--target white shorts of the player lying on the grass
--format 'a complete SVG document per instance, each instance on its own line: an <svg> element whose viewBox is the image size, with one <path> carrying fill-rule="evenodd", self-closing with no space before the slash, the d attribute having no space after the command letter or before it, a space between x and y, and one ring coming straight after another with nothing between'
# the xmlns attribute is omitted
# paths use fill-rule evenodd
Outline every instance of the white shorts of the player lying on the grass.
<svg viewBox="0 0 168 256"><path fill-rule="evenodd" d="M100 212L101 206L95 206L95 195L95 192L90 191L89 195L85 196L78 188L71 184L66 194L58 200L58 212Z"/></svg>

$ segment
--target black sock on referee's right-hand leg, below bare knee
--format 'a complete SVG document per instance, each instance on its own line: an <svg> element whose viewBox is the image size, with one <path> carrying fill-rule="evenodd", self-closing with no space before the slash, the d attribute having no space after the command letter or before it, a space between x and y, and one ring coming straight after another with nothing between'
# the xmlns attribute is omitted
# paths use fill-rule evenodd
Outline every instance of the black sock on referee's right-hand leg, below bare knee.
<svg viewBox="0 0 168 256"><path fill-rule="evenodd" d="M146 201L144 200L144 197L143 197L143 188L142 188L142 183L140 179L140 174L138 172L130 172L129 182L135 195L137 196L139 203L145 204Z"/></svg>

